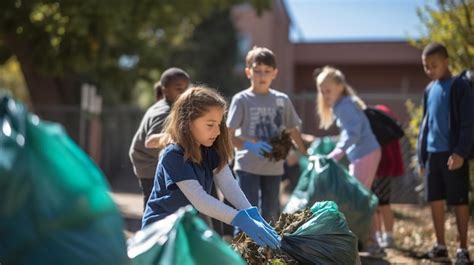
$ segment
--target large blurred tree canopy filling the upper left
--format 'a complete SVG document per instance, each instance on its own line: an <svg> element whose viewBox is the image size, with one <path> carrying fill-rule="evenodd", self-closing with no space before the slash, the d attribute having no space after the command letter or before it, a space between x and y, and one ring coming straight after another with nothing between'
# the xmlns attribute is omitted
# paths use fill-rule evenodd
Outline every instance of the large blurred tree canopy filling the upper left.
<svg viewBox="0 0 474 265"><path fill-rule="evenodd" d="M137 80L157 79L204 18L240 2L1 1L0 63L16 56L33 105L78 104L85 81L106 102L124 102ZM270 5L248 2L260 10Z"/></svg>

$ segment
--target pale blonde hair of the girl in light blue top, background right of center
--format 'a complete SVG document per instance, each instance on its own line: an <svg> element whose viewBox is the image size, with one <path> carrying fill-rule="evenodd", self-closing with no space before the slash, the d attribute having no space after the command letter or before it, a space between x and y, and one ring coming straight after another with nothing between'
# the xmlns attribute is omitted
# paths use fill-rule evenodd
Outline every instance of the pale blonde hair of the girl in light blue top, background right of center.
<svg viewBox="0 0 474 265"><path fill-rule="evenodd" d="M317 112L320 118L319 128L328 129L334 122L334 113L332 111L332 107L326 104L320 89L320 85L327 80L342 85L344 87L344 90L342 91L343 96L351 96L352 100L361 109L366 108L364 101L362 101L357 96L354 89L347 83L346 77L339 69L334 68L332 66L324 66L322 69L316 69L315 74L313 74L313 77L318 91L316 105Z"/></svg>

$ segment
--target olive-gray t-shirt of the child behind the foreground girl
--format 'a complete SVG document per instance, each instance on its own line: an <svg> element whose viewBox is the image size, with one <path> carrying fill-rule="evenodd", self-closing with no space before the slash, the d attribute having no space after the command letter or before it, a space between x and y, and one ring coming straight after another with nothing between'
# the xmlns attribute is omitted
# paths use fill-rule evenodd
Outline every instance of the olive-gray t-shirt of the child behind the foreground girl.
<svg viewBox="0 0 474 265"><path fill-rule="evenodd" d="M169 103L164 99L153 104L145 112L140 126L133 137L129 156L133 165L133 171L138 178L152 179L155 177L160 150L145 148L145 140L148 136L161 132L170 110Z"/></svg>

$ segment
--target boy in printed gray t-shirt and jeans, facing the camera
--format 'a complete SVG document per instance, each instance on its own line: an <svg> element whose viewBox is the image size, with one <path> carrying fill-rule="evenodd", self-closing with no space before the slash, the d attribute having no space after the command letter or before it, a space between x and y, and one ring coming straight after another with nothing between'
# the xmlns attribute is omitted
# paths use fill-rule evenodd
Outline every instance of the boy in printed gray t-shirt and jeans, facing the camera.
<svg viewBox="0 0 474 265"><path fill-rule="evenodd" d="M260 206L263 217L279 216L279 190L284 160L263 157L270 152L271 137L286 130L299 151L306 154L298 126L301 120L288 96L270 88L277 76L276 59L267 48L254 47L246 57L245 74L250 87L232 98L227 126L237 148L234 170L250 203ZM235 135L236 131L239 135Z"/></svg>

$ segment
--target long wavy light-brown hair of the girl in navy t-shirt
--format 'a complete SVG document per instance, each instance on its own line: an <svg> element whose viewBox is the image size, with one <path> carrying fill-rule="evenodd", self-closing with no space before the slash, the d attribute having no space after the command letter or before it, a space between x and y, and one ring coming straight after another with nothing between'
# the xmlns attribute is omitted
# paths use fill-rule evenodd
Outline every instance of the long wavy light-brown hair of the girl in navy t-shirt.
<svg viewBox="0 0 474 265"><path fill-rule="evenodd" d="M184 159L200 164L202 162L201 148L196 145L196 140L191 133L191 122L204 116L211 107L222 108L224 112L227 110L227 102L214 89L200 85L191 87L181 94L165 121L160 148L172 143L179 144L184 150ZM220 134L212 144L219 157L218 171L224 168L233 156L225 117L219 129Z"/></svg>

